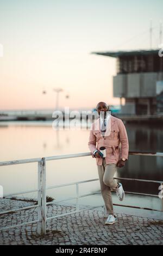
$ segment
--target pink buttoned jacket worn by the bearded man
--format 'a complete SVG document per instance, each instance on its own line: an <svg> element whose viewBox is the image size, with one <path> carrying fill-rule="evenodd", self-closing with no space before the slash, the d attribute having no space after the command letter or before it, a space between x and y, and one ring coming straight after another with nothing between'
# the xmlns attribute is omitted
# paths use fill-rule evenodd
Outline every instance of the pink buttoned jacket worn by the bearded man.
<svg viewBox="0 0 163 256"><path fill-rule="evenodd" d="M93 151L101 147L106 148L106 164L117 163L121 158L128 160L128 137L126 128L121 119L110 115L110 126L106 126L106 135L102 136L99 118L92 124L89 137L89 149L93 156ZM108 133L109 131L109 133ZM96 145L97 143L97 145ZM102 158L96 157L96 164L102 166Z"/></svg>

